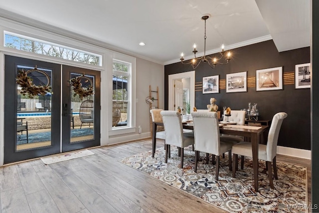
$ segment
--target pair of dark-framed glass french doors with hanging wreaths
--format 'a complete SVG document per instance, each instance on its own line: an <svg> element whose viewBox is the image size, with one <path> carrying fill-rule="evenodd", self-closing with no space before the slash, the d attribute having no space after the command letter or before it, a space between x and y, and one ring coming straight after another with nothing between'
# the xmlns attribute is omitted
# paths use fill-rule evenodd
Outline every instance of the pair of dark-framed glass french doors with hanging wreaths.
<svg viewBox="0 0 319 213"><path fill-rule="evenodd" d="M4 84L4 164L100 145L99 72L5 55Z"/></svg>

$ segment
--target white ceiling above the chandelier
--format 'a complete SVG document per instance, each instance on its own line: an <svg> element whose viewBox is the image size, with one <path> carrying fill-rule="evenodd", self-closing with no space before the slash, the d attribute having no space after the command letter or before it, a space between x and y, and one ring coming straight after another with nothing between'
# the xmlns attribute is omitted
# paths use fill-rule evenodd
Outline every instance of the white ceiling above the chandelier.
<svg viewBox="0 0 319 213"><path fill-rule="evenodd" d="M160 64L273 39L278 51L310 46L310 0L8 0L0 16L75 33ZM145 46L140 46L143 41Z"/></svg>

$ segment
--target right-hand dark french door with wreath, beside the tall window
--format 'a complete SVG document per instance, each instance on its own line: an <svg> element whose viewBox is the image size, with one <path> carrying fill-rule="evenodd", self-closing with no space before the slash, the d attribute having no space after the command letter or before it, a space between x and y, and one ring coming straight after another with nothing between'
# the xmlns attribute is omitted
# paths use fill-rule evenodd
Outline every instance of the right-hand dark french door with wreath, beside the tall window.
<svg viewBox="0 0 319 213"><path fill-rule="evenodd" d="M100 145L100 72L62 66L62 152Z"/></svg>

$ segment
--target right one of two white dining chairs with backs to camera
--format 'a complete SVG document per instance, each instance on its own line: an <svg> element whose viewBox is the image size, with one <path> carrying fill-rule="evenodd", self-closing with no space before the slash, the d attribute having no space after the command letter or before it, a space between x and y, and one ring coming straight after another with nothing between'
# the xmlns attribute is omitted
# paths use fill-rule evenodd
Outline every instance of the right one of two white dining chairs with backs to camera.
<svg viewBox="0 0 319 213"><path fill-rule="evenodd" d="M216 173L215 180L219 175L219 156L228 151L229 153L229 170L231 170L231 149L233 143L222 141L219 133L218 116L216 112L192 112L194 123L195 138L195 168L197 172L197 162L199 152L210 153L216 155ZM208 156L207 156L208 157ZM207 160L206 160L207 162Z"/></svg>

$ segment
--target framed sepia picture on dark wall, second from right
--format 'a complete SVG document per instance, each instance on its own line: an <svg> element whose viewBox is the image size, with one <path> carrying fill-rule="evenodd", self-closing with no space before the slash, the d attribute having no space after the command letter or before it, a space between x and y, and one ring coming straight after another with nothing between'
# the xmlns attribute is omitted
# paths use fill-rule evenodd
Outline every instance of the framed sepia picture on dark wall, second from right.
<svg viewBox="0 0 319 213"><path fill-rule="evenodd" d="M256 91L283 89L283 67L256 70Z"/></svg>

